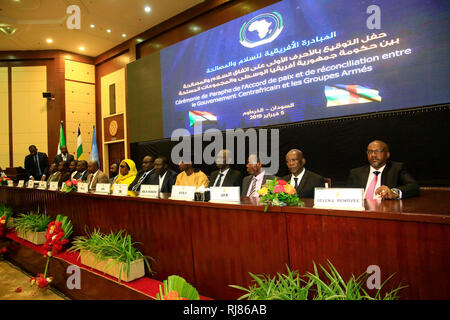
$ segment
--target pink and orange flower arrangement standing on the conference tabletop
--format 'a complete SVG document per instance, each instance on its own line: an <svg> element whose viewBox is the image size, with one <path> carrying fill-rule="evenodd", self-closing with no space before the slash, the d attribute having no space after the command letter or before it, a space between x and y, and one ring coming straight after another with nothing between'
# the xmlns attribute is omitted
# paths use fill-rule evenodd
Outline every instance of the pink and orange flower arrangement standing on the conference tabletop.
<svg viewBox="0 0 450 320"><path fill-rule="evenodd" d="M267 208L270 205L292 207L304 205L298 198L294 186L284 180L267 180L262 188L258 190L258 194L261 196L258 203L266 205L264 212L267 212Z"/></svg>

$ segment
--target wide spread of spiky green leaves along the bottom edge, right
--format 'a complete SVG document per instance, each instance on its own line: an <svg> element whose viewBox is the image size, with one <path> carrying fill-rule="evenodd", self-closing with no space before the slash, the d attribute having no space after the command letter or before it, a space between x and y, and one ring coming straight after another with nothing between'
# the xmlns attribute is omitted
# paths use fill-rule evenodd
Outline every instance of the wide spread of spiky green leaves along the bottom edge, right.
<svg viewBox="0 0 450 320"><path fill-rule="evenodd" d="M396 300L399 299L398 292L406 287L399 286L382 297L381 290L394 276L391 275L372 297L363 288L368 277L367 273L359 277L352 275L346 282L330 261L328 261L329 270L319 265L324 277L321 277L314 262L313 265L314 273L307 272L303 276L304 280L297 271L292 272L287 268L288 274L278 273L278 279L249 273L255 284L248 289L236 285L230 287L245 291L246 294L239 299L248 300Z"/></svg>

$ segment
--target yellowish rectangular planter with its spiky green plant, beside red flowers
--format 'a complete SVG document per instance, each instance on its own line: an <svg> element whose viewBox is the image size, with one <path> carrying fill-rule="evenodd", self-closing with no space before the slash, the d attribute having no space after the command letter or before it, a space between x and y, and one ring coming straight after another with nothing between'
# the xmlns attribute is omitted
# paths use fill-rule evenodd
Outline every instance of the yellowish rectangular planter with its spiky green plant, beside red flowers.
<svg viewBox="0 0 450 320"><path fill-rule="evenodd" d="M70 249L79 251L82 264L116 277L119 283L143 277L145 265L152 272L147 257L134 247L131 236L123 230L108 235L98 229L86 233L87 236L76 237Z"/></svg>

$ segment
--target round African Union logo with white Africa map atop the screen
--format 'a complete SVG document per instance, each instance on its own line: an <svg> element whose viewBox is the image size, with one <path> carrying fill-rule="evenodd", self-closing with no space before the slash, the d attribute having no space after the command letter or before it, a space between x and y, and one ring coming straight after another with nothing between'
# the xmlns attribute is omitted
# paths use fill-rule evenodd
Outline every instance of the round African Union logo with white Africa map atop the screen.
<svg viewBox="0 0 450 320"><path fill-rule="evenodd" d="M275 40L283 30L283 18L278 12L263 13L244 23L239 32L241 44L254 48Z"/></svg>

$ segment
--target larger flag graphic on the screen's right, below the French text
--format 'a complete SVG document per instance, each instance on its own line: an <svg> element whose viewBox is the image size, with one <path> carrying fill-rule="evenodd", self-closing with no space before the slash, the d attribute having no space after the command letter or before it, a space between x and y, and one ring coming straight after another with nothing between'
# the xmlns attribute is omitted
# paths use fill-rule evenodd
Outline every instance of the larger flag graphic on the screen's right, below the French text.
<svg viewBox="0 0 450 320"><path fill-rule="evenodd" d="M325 86L325 96L327 97L327 107L381 102L381 96L378 90L356 84Z"/></svg>

